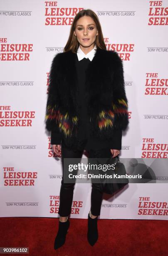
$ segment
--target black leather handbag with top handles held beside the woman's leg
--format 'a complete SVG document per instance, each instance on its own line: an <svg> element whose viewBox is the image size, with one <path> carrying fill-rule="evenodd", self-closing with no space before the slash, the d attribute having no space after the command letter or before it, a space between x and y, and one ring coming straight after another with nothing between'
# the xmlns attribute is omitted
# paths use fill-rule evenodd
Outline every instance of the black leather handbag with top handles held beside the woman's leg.
<svg viewBox="0 0 168 256"><path fill-rule="evenodd" d="M124 175L124 176L126 175L126 168L125 168L124 164L120 162L119 156L116 156L114 158L111 156L111 158L107 160L107 164L115 165L114 170L106 171L107 175L111 175L111 174L112 175L117 174L117 176L118 175ZM108 183L107 183L107 179L108 179ZM117 192L118 190L120 190L121 188L123 188L126 184L129 183L128 178L117 178L117 183L114 182L114 179L116 181L116 178L101 179L101 183L100 183L101 191L112 195L115 192Z"/></svg>

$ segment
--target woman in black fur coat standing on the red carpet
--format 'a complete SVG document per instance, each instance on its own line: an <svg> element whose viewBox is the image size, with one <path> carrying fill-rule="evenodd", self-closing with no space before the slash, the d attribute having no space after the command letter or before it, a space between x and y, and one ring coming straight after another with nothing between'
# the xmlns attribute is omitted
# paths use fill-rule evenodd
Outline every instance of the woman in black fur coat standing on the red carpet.
<svg viewBox="0 0 168 256"><path fill-rule="evenodd" d="M64 158L81 159L119 155L122 130L128 125L128 101L123 64L116 51L107 51L98 17L92 10L75 16L64 52L54 56L50 70L46 106L46 129L51 131L53 151ZM65 242L69 228L74 183L60 189L57 249ZM97 218L103 192L92 183L87 239L98 239Z"/></svg>

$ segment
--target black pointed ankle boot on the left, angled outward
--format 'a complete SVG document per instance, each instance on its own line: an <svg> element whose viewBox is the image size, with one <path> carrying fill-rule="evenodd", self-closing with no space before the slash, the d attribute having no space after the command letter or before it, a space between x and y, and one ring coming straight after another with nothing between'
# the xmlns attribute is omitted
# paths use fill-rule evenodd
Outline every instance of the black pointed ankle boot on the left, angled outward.
<svg viewBox="0 0 168 256"><path fill-rule="evenodd" d="M69 228L69 219L65 222L61 222L59 219L58 233L54 241L54 249L61 247L65 243L66 235Z"/></svg>

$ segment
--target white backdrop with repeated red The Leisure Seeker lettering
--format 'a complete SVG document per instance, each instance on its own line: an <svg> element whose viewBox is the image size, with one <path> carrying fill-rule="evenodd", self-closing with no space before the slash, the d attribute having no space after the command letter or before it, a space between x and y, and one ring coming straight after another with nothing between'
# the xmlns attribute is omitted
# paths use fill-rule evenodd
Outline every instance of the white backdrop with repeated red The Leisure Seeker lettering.
<svg viewBox="0 0 168 256"><path fill-rule="evenodd" d="M168 157L168 0L1 0L1 217L59 217L62 165L44 124L49 71L74 16L88 8L124 64L129 127L120 158ZM167 183L130 183L104 194L100 218L168 220L167 195ZM75 185L71 218L87 218L90 197L90 183Z"/></svg>

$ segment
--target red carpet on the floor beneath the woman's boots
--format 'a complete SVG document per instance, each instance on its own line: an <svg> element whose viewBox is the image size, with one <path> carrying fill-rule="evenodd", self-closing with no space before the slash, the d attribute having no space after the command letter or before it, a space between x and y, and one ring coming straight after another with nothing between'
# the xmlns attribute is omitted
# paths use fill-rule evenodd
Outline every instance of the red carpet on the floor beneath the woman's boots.
<svg viewBox="0 0 168 256"><path fill-rule="evenodd" d="M93 247L86 238L87 220L69 220L66 242L55 251L59 218L0 218L0 247L29 247L27 255L30 256L159 256L168 253L167 220L98 220L99 239Z"/></svg>

